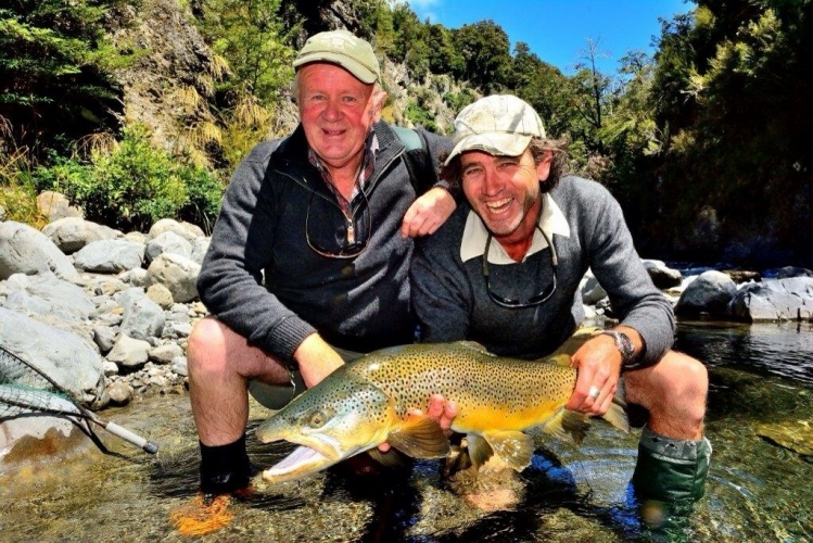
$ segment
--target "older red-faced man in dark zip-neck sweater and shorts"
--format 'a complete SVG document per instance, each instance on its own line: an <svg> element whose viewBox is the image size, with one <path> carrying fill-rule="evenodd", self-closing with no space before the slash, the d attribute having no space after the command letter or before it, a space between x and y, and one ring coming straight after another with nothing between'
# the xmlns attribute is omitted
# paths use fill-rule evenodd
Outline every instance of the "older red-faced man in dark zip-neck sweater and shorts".
<svg viewBox="0 0 813 543"><path fill-rule="evenodd" d="M411 238L455 209L436 175L448 140L380 121L369 43L317 34L293 65L300 126L234 172L198 280L212 316L189 338L189 391L207 493L249 484L249 390L279 408L359 353L414 340Z"/></svg>

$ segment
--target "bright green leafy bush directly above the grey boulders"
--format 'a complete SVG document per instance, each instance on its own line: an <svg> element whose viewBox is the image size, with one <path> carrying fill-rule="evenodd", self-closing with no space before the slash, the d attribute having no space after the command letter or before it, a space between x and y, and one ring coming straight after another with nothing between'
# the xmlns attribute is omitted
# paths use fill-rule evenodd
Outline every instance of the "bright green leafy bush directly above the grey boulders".
<svg viewBox="0 0 813 543"><path fill-rule="evenodd" d="M208 224L221 195L211 174L153 148L140 125L127 127L111 153L93 151L89 163L56 159L34 177L39 190L60 191L81 205L88 219L124 230L147 231L166 217Z"/></svg>

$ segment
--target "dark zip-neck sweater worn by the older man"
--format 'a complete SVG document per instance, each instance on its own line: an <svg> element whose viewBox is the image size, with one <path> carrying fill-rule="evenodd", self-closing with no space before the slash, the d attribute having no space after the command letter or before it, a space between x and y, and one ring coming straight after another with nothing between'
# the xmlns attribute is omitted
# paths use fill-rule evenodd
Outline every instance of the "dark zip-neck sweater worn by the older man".
<svg viewBox="0 0 813 543"><path fill-rule="evenodd" d="M399 228L416 190L402 160L404 144L386 124L373 129L379 141L374 172L365 185L366 198L352 202L369 242L354 258L325 257L308 247L306 218L312 241L329 247L326 216L340 211L329 207L338 205L335 195L307 160L302 127L289 138L258 144L234 172L198 290L208 311L250 344L291 361L314 331L357 352L414 340L412 240L402 238ZM445 138L421 135L433 157L448 147ZM338 235L345 232L341 228Z"/></svg>

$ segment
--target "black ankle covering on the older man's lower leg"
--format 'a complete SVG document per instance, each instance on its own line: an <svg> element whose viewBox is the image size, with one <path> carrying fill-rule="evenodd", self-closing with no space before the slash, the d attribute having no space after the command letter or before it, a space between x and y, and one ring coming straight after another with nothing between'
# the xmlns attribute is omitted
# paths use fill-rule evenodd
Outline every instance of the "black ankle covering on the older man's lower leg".
<svg viewBox="0 0 813 543"><path fill-rule="evenodd" d="M201 491L204 494L228 494L245 489L256 469L245 452L245 434L226 445L201 445Z"/></svg>

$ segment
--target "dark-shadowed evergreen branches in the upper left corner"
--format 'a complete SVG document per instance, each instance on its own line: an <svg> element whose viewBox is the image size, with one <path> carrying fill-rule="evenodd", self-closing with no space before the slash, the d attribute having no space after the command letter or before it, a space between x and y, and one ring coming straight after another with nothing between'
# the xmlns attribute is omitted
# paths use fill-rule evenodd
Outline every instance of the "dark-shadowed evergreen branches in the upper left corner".
<svg viewBox="0 0 813 543"><path fill-rule="evenodd" d="M9 0L0 9L0 116L20 146L43 149L116 126L127 62L103 26L124 0ZM43 119L46 122L43 123Z"/></svg>

